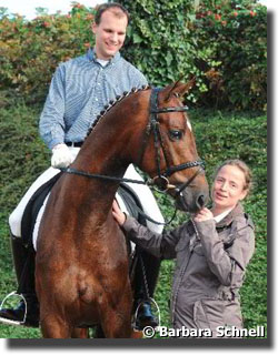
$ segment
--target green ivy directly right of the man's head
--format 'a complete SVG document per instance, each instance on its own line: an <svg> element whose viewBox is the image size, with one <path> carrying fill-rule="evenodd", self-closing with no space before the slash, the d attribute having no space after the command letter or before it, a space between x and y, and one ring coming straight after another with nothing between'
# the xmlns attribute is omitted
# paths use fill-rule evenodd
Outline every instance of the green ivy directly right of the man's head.
<svg viewBox="0 0 278 355"><path fill-rule="evenodd" d="M193 70L188 30L191 0L119 1L131 13L123 55L156 85L166 85Z"/></svg>

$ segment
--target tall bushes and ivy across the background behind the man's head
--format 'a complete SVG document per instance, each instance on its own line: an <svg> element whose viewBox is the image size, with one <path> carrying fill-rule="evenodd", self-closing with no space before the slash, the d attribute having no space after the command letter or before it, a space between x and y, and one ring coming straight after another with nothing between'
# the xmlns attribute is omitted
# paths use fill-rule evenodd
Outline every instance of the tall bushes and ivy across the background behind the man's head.
<svg viewBox="0 0 278 355"><path fill-rule="evenodd" d="M267 17L256 0L119 0L131 13L123 57L155 85L195 75L191 103L266 109ZM0 105L43 102L58 63L93 45L95 9L26 21L0 8Z"/></svg>

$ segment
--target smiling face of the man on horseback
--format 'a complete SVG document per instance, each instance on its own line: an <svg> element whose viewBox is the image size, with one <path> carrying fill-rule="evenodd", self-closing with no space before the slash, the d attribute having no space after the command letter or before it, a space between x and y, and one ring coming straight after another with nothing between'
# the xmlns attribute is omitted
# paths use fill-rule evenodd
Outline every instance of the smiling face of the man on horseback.
<svg viewBox="0 0 278 355"><path fill-rule="evenodd" d="M96 53L98 59L111 59L123 45L128 19L116 17L112 11L102 13L99 24L92 24L92 32L96 36Z"/></svg>

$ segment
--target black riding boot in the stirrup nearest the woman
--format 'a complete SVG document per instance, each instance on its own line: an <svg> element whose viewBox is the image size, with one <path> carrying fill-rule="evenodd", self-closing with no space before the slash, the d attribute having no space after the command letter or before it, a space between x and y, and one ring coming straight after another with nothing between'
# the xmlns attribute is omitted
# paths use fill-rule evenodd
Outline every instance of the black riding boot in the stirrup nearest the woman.
<svg viewBox="0 0 278 355"><path fill-rule="evenodd" d="M158 320L151 311L150 298L153 298L160 260L142 250L137 253L139 255L135 273L135 311L139 308L136 326L143 329L146 326L156 327L158 325Z"/></svg>

